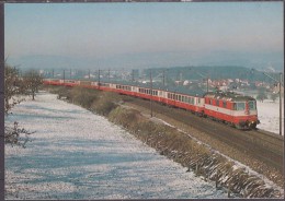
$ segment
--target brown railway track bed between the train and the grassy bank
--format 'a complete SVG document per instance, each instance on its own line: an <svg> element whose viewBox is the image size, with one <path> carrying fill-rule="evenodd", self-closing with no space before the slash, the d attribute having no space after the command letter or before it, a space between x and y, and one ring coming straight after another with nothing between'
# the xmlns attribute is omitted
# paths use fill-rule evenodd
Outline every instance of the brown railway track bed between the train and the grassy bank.
<svg viewBox="0 0 285 201"><path fill-rule="evenodd" d="M149 109L149 100L134 98L132 104ZM197 117L190 111L171 108L153 103L153 113L191 126L210 138L230 145L243 154L265 163L269 167L283 173L284 138L261 130L241 131L227 125L213 121L208 118Z"/></svg>

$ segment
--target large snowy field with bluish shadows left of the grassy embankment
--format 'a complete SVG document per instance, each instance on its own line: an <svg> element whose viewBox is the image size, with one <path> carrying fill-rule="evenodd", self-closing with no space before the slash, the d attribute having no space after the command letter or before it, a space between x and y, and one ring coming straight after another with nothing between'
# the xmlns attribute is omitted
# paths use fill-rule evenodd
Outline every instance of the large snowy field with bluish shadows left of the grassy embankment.
<svg viewBox="0 0 285 201"><path fill-rule="evenodd" d="M105 118L41 93L5 123L35 131L5 146L5 199L227 198Z"/></svg>

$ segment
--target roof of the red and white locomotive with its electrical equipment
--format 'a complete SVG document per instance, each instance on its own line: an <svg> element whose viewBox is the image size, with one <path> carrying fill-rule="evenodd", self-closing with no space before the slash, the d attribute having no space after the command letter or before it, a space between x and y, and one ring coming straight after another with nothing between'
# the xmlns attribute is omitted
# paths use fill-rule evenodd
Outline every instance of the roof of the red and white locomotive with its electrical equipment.
<svg viewBox="0 0 285 201"><path fill-rule="evenodd" d="M251 96L244 96L242 94L233 93L233 92L208 92L205 94L204 97L210 97L215 99L221 99L221 100L230 100L230 102L246 102L246 100L255 100Z"/></svg>

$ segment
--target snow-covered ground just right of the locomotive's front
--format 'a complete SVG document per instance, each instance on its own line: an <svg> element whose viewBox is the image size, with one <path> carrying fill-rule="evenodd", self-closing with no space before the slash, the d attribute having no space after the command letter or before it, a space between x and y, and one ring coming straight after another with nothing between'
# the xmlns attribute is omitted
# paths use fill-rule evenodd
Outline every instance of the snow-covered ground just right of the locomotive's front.
<svg viewBox="0 0 285 201"><path fill-rule="evenodd" d="M284 100L284 99L283 99ZM283 102L284 103L284 102ZM280 134L280 103L270 99L256 102L258 116L260 119L259 129ZM282 135L284 135L284 104L282 104Z"/></svg>

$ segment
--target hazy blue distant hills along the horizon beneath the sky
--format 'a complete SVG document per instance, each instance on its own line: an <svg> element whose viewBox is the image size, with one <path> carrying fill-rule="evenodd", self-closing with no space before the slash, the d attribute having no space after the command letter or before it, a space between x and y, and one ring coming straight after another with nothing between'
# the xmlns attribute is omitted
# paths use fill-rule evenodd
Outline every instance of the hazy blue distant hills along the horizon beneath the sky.
<svg viewBox="0 0 285 201"><path fill-rule="evenodd" d="M265 70L273 68L283 70L282 52L240 52L240 51L163 51L163 52L128 52L109 56L65 56L65 55L26 55L10 56L8 62L21 66L22 69L77 69L77 70L107 70L107 69L147 69L174 67L233 67L254 68ZM223 70L221 70L223 71ZM206 70L205 70L206 72ZM213 75L215 72L212 73Z"/></svg>

